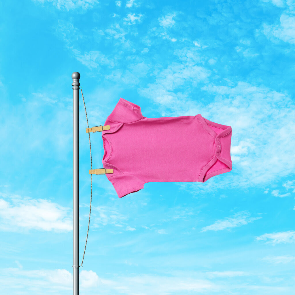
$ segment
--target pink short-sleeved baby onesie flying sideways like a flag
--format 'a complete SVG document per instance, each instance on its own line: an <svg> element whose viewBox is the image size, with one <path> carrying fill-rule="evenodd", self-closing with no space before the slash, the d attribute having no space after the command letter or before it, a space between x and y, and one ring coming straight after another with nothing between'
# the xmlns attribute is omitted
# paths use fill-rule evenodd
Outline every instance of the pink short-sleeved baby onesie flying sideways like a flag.
<svg viewBox="0 0 295 295"><path fill-rule="evenodd" d="M119 99L102 131L103 167L122 198L147 182L205 182L232 170L231 126L196 116L147 118L140 106Z"/></svg>

